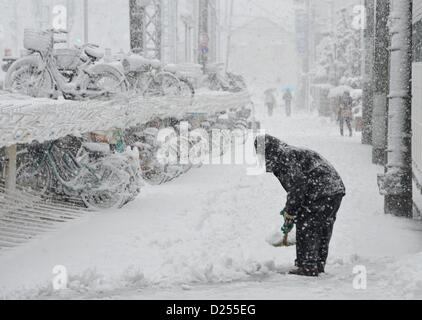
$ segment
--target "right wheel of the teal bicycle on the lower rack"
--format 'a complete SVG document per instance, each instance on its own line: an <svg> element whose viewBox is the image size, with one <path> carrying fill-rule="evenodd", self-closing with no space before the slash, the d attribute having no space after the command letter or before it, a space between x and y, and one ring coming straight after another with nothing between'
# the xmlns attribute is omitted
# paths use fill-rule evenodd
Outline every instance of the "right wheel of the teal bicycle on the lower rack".
<svg viewBox="0 0 422 320"><path fill-rule="evenodd" d="M94 211L121 208L127 199L125 179L112 166L101 164L100 167L100 186L83 192L82 201Z"/></svg>

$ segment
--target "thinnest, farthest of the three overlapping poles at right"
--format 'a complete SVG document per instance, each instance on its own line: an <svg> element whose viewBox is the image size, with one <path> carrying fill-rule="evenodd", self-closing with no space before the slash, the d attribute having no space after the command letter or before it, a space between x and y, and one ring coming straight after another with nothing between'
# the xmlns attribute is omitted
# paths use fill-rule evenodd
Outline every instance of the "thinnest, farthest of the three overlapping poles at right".
<svg viewBox="0 0 422 320"><path fill-rule="evenodd" d="M363 131L362 143L372 144L372 110L374 107L374 32L375 0L365 0L366 23L364 29L363 73Z"/></svg>

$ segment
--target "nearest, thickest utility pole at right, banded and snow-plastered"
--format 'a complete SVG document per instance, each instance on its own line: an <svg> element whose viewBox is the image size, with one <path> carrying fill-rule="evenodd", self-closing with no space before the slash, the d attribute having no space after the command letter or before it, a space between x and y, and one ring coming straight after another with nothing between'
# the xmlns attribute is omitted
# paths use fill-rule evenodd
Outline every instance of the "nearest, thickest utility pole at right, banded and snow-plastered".
<svg viewBox="0 0 422 320"><path fill-rule="evenodd" d="M388 161L383 177L385 213L411 218L412 0L394 0L388 108Z"/></svg>

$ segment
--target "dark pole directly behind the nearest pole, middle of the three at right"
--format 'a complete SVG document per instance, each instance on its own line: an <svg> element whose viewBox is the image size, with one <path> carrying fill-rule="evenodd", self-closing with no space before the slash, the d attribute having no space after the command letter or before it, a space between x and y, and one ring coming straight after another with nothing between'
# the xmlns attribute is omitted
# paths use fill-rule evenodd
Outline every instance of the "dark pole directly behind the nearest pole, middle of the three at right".
<svg viewBox="0 0 422 320"><path fill-rule="evenodd" d="M387 158L388 61L390 56L390 35L388 32L389 15L390 0L376 0L372 162L379 165L385 165Z"/></svg>

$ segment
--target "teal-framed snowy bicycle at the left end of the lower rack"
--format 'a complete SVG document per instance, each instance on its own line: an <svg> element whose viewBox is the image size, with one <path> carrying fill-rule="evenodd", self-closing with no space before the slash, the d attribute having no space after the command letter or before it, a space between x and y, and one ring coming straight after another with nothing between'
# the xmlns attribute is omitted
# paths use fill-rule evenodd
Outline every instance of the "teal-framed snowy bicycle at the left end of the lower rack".
<svg viewBox="0 0 422 320"><path fill-rule="evenodd" d="M44 148L45 144L33 146L20 159L16 181L29 192L44 196L55 189L99 210L120 208L140 191L136 156L112 154L106 144L83 143L76 156L59 142Z"/></svg>

